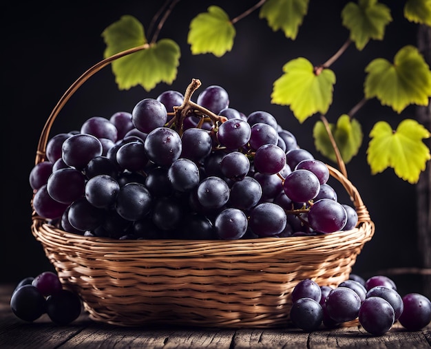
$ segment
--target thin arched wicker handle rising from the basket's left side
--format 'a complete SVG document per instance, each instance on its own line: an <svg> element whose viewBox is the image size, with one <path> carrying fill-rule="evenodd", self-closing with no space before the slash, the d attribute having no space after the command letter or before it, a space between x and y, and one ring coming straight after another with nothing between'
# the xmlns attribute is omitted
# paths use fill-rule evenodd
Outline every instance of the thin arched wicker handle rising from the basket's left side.
<svg viewBox="0 0 431 349"><path fill-rule="evenodd" d="M59 115L59 112L61 109L63 109L64 105L69 101L70 97L76 92L76 90L85 83L90 77L92 77L96 72L101 70L103 67L106 67L116 59L119 59L123 56L127 56L128 54L132 54L134 52L138 52L140 50L145 50L149 47L148 43L145 43L144 45L136 46L129 48L128 50L124 50L121 52L118 52L117 54L114 54L112 56L107 57L107 59L103 59L103 61L100 61L90 67L87 71L85 71L79 78L70 85L70 87L66 90L66 92L61 96L59 102L55 105L54 109L52 109L52 112L50 116L48 117L48 120L46 120L45 125L43 126L41 136L39 137L39 143L37 145L37 151L36 151L36 158L34 160L35 165L37 165L39 162L42 162L45 159L45 151L46 151L46 144L48 142L48 137L50 135L50 130L52 127L52 124L54 123L54 120Z"/></svg>

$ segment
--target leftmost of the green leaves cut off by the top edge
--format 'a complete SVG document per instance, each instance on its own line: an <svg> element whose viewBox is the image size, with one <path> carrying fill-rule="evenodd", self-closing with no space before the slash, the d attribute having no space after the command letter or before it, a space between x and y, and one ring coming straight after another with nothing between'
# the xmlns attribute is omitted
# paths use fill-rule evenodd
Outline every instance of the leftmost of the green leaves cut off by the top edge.
<svg viewBox="0 0 431 349"><path fill-rule="evenodd" d="M286 38L295 40L307 12L308 0L267 0L259 18L265 18L274 32L282 29Z"/></svg>

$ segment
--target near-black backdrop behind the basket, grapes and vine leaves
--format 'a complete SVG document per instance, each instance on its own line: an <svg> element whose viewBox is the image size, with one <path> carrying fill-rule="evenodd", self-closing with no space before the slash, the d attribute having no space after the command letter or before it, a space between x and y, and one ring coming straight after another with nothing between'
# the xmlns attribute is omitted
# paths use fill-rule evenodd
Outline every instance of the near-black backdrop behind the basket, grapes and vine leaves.
<svg viewBox="0 0 431 349"><path fill-rule="evenodd" d="M266 110L295 134L301 147L315 151L312 128L315 115L302 125L288 107L271 104L273 82L282 75L287 61L304 56L313 64L324 63L348 38L340 12L347 1L311 0L308 15L295 41L282 31L273 32L258 12L235 25L233 50L222 58L211 54L193 56L187 45L191 19L218 4L231 18L257 1L180 1L167 19L159 39L174 39L181 46L178 77L172 85L159 84L151 92L142 87L119 91L110 67L87 81L65 105L51 136L78 129L91 116L109 118L118 111L131 112L143 98L156 98L166 89L184 92L191 78L202 87L222 85L229 92L231 107L244 114ZM364 68L374 58L393 60L407 44L416 45L417 26L403 18L404 1L381 1L391 8L394 21L386 28L385 41L370 41L362 51L354 45L331 69L337 76L334 101L327 114L335 122L363 97ZM108 5L109 3L109 5ZM39 242L30 231L32 189L28 176L34 166L36 145L52 108L73 81L103 59L101 33L123 14L132 14L148 28L162 1L16 1L2 6L2 226L0 240L1 282L18 282L52 269ZM394 128L403 118L414 118L414 107L401 115L371 100L357 113L364 131L359 155L348 164L348 176L361 193L376 232L357 259L354 272L364 277L388 268L421 266L417 252L415 187L397 178L392 169L372 176L366 163L368 133L377 120ZM325 160L327 161L327 160ZM341 193L339 195L342 196ZM397 279L396 276L394 276ZM417 280L404 292L418 291Z"/></svg>

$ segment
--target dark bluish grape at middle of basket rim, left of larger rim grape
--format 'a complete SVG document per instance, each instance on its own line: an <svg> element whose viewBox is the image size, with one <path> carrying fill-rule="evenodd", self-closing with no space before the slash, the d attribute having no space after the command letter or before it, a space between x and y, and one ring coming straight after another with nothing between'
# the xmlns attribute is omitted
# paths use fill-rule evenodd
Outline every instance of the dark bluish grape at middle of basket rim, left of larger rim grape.
<svg viewBox="0 0 431 349"><path fill-rule="evenodd" d="M236 240L247 230L247 217L240 209L224 209L215 218L214 228L222 240Z"/></svg>

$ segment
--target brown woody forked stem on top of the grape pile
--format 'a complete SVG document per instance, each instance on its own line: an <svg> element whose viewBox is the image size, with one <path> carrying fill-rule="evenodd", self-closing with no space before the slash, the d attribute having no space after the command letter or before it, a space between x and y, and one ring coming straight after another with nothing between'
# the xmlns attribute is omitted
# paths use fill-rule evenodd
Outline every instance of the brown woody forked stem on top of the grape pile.
<svg viewBox="0 0 431 349"><path fill-rule="evenodd" d="M180 135L183 131L184 119L191 114L201 116L202 118L207 116L210 118L213 125L217 125L217 123L224 123L224 121L227 120L225 116L216 115L207 108L202 107L202 105L198 105L191 101L193 92L195 92L196 89L200 87L200 85L202 85L202 83L198 78L191 79L191 83L189 86L187 86L186 92L184 94L184 100L182 101L182 104L180 106L174 107L175 116L172 118L172 123L178 121L178 123L176 123L176 127L178 134ZM203 123L203 120L201 121ZM202 123L200 123L200 125L202 125Z"/></svg>

